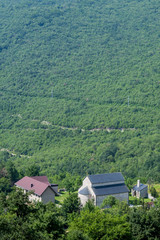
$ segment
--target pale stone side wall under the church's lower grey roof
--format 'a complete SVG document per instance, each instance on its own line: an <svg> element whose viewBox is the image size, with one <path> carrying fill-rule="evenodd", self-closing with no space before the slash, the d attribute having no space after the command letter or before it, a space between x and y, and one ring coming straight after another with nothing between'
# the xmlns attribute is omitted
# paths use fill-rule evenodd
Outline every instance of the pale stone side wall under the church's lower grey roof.
<svg viewBox="0 0 160 240"><path fill-rule="evenodd" d="M128 203L129 200L129 194L127 193L119 193L119 194L111 194L111 195L103 195L103 196L97 196L96 198L96 206L100 206L105 198L108 196L113 196L117 198L120 201L125 201Z"/></svg>

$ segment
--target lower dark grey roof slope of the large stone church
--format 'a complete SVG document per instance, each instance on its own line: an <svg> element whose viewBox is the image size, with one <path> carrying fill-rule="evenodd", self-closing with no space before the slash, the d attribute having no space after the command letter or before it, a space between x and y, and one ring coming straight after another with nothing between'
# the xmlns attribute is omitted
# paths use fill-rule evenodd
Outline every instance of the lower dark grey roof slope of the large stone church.
<svg viewBox="0 0 160 240"><path fill-rule="evenodd" d="M129 190L125 184L115 184L115 185L109 185L109 186L92 187L92 189L96 196L129 192Z"/></svg>

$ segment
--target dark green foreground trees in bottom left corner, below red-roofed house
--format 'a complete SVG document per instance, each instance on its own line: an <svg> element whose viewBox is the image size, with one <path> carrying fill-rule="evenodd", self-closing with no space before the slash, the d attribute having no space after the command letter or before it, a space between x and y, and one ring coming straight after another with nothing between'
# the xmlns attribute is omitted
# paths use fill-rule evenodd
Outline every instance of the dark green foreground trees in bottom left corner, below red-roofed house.
<svg viewBox="0 0 160 240"><path fill-rule="evenodd" d="M22 191L12 191L0 198L0 238L5 239L55 239L64 234L59 209L52 203L36 206Z"/></svg>

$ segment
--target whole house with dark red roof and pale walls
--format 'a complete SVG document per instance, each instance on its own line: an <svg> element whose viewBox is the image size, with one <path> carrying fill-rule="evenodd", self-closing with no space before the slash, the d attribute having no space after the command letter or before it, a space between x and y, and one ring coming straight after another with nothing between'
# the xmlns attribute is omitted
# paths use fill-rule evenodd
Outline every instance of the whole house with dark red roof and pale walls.
<svg viewBox="0 0 160 240"><path fill-rule="evenodd" d="M58 185L50 184L46 176L23 177L15 186L23 189L26 192L32 192L29 195L31 202L43 202L44 204L49 201L55 202L55 196L58 195Z"/></svg>

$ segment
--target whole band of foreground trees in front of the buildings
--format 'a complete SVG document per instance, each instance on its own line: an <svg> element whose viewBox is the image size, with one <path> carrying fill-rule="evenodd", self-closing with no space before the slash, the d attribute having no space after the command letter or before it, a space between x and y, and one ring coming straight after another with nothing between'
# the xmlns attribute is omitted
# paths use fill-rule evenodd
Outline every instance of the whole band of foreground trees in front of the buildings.
<svg viewBox="0 0 160 240"><path fill-rule="evenodd" d="M110 196L101 208L90 200L80 207L76 193L61 208L53 203L31 204L28 195L13 190L0 194L0 238L2 240L158 240L160 201L155 206L129 208ZM109 208L102 208L104 206Z"/></svg>

